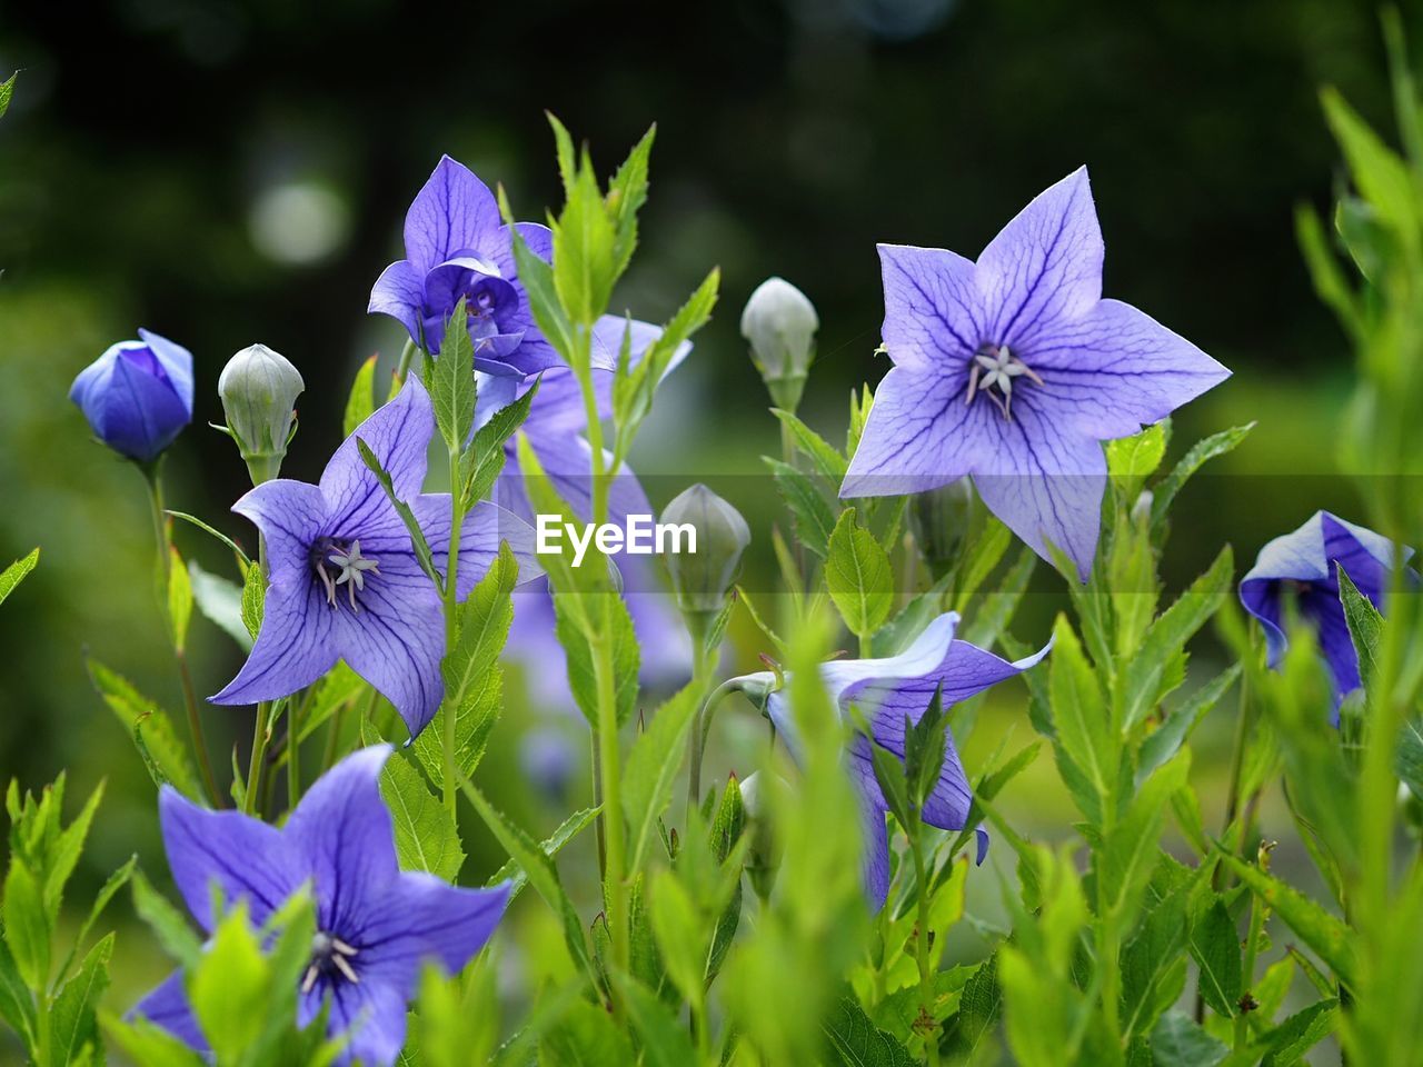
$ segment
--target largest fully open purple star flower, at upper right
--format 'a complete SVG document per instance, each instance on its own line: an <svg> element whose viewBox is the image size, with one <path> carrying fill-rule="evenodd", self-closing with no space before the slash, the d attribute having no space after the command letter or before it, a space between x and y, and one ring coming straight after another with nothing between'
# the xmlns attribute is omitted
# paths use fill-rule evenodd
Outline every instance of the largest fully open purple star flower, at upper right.
<svg viewBox="0 0 1423 1067"><path fill-rule="evenodd" d="M881 245L884 341L841 497L922 492L972 475L1035 552L1086 580L1107 464L1128 437L1229 376L1130 304L1101 299L1101 230L1081 168L1009 222L978 262Z"/></svg>

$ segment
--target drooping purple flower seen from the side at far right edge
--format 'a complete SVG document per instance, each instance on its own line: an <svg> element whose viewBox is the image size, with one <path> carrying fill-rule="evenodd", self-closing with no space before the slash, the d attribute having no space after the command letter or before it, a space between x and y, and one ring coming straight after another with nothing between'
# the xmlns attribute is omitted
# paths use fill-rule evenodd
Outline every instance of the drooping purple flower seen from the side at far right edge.
<svg viewBox="0 0 1423 1067"><path fill-rule="evenodd" d="M1410 555L1412 549L1406 551L1405 559ZM1319 650L1329 664L1335 684L1335 721L1339 701L1362 684L1359 654L1339 600L1340 566L1359 592L1382 612L1393 570L1393 543L1328 511L1316 511L1299 529L1265 545L1239 586L1241 603L1265 630L1271 667L1279 666L1288 646L1285 605L1288 598L1294 598L1299 617L1315 629Z"/></svg>

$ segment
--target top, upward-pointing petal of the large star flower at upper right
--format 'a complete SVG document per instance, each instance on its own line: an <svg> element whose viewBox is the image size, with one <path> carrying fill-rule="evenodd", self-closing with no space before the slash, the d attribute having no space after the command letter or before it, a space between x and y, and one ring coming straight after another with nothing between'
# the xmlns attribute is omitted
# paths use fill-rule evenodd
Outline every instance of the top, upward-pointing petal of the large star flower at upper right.
<svg viewBox="0 0 1423 1067"><path fill-rule="evenodd" d="M986 336L1017 347L1042 320L1079 319L1101 299L1101 228L1081 166L1040 192L978 258Z"/></svg>

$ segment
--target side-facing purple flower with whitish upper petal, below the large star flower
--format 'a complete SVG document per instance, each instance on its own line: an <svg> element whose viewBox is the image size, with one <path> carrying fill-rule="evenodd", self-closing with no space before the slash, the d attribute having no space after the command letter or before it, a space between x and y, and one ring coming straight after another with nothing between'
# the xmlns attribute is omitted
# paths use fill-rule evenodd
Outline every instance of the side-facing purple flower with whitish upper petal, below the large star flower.
<svg viewBox="0 0 1423 1067"><path fill-rule="evenodd" d="M869 726L875 744L904 760L904 720L918 723L928 710L935 691L942 686L943 707L982 693L999 681L1022 674L1037 664L1052 649L1052 642L1027 659L1009 663L976 644L956 640L959 626L956 612L946 612L931 622L924 633L898 656L875 660L831 660L820 667L825 690L845 714L851 704ZM750 689L774 684L770 673L753 674L744 681ZM795 721L785 690L770 693L767 714L794 754L797 750ZM924 805L924 821L939 829L963 829L968 824L973 792L968 774L959 761L948 724L943 727L946 744L939 782ZM850 770L865 819L865 888L878 911L889 895L889 838L885 832L885 802L875 778L872 747L868 737L857 733L848 748ZM988 831L978 829L978 862L988 855Z"/></svg>

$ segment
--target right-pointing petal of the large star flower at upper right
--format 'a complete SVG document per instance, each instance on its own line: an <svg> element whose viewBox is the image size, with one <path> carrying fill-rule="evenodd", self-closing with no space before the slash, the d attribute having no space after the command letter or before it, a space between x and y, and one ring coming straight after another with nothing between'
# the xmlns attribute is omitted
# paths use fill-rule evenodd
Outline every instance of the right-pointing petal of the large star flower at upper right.
<svg viewBox="0 0 1423 1067"><path fill-rule="evenodd" d="M1035 404L1096 438L1130 437L1231 374L1120 300L1101 300L1072 322L1039 322L1016 353L1043 378L1026 387Z"/></svg>

